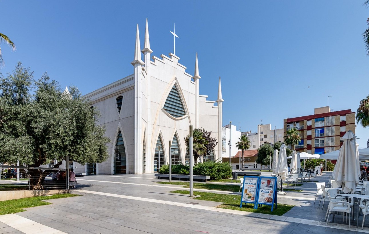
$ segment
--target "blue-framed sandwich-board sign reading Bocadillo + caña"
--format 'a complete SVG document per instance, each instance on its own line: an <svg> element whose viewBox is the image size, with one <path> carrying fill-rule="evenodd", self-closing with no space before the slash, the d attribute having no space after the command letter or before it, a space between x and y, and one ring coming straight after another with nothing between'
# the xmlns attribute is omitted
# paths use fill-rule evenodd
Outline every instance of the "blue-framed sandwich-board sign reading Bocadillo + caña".
<svg viewBox="0 0 369 234"><path fill-rule="evenodd" d="M254 204L254 209L256 207L256 198L258 195L258 176L244 176L244 183L242 185L242 194L241 194L241 204L239 207L242 207L242 203L252 203Z"/></svg>

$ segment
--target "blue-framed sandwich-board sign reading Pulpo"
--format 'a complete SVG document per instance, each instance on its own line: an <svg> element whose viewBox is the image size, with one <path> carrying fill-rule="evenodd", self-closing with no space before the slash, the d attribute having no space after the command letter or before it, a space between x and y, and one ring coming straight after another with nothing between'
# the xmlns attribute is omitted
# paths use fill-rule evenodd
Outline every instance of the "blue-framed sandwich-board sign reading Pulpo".
<svg viewBox="0 0 369 234"><path fill-rule="evenodd" d="M258 204L272 206L276 204L277 207L277 178L261 176L258 183L258 197L256 199L255 207Z"/></svg>

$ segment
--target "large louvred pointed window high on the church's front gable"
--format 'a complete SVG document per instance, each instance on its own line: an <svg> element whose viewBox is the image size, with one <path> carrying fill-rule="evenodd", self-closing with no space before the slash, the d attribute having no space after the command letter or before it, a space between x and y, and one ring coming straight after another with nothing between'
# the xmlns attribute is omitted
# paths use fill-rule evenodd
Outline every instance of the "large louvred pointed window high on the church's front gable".
<svg viewBox="0 0 369 234"><path fill-rule="evenodd" d="M176 85L173 85L172 90L170 90L169 95L166 98L164 110L175 118L180 118L186 115L186 111L184 110L184 105Z"/></svg>

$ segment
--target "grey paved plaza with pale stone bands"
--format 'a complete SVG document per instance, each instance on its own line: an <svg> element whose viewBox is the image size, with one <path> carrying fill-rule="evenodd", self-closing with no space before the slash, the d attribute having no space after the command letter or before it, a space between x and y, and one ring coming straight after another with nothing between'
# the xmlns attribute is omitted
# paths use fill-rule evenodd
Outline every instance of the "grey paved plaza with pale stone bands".
<svg viewBox="0 0 369 234"><path fill-rule="evenodd" d="M266 172L262 174L268 175ZM317 179L327 182L328 174ZM325 225L324 210L314 203L315 183L306 182L303 192L278 196L278 203L293 204L283 216L215 208L221 203L190 199L188 195L168 193L177 185L157 184L153 174L84 176L77 178L72 193L82 196L49 200L52 204L27 208L27 211L0 216L1 233L151 233L151 234L223 234L223 233L369 233L342 222ZM234 183L235 184L235 183ZM195 191L208 191L194 189ZM221 192L237 194L232 192ZM320 206L321 208L321 206ZM355 211L356 212L356 211ZM332 215L331 215L332 217ZM331 218L330 218L331 220Z"/></svg>

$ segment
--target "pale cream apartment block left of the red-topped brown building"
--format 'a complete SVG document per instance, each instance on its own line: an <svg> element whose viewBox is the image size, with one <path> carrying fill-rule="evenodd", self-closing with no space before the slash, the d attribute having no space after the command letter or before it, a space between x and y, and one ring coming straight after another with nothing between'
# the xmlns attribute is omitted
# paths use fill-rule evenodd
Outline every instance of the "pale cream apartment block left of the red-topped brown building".
<svg viewBox="0 0 369 234"><path fill-rule="evenodd" d="M274 144L278 141L283 142L283 128L272 129L271 124L259 124L256 133L248 131L242 132L242 135L246 135L251 142L249 150L258 149L266 143Z"/></svg>

